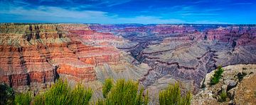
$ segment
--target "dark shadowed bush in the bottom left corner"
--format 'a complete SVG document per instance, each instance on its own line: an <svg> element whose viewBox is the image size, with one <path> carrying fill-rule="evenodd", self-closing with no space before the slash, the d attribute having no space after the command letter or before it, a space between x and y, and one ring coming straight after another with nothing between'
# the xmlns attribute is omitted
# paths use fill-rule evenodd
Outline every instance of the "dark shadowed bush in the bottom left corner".
<svg viewBox="0 0 256 105"><path fill-rule="evenodd" d="M0 104L14 104L14 89L0 83Z"/></svg>

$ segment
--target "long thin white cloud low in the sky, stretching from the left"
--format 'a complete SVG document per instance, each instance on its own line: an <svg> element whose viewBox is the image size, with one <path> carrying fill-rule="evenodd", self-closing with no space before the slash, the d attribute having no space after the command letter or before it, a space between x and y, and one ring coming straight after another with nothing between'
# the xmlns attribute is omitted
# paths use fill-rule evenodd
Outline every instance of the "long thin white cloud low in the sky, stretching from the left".
<svg viewBox="0 0 256 105"><path fill-rule="evenodd" d="M11 7L9 10L0 11L1 16L14 16L15 21L21 22L46 22L46 23L185 23L178 19L162 19L154 16L135 16L121 18L109 15L103 11L75 11L52 6L38 6L38 8ZM3 18L3 17L2 17Z"/></svg>

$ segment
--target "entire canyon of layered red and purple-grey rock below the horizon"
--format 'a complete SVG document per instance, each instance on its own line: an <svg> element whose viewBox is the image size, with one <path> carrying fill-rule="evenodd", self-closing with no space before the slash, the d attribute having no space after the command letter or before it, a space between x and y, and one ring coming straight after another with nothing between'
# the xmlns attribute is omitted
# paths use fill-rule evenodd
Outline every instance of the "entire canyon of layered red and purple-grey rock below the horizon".
<svg viewBox="0 0 256 105"><path fill-rule="evenodd" d="M155 95L170 83L197 94L217 66L256 63L256 25L0 25L0 82L39 92L57 78L92 87L106 78L139 81Z"/></svg>

